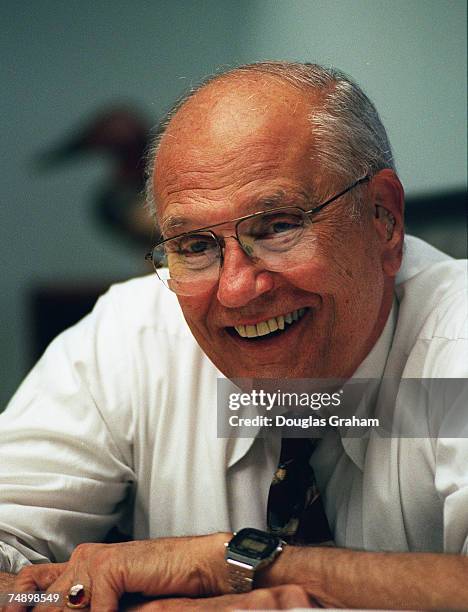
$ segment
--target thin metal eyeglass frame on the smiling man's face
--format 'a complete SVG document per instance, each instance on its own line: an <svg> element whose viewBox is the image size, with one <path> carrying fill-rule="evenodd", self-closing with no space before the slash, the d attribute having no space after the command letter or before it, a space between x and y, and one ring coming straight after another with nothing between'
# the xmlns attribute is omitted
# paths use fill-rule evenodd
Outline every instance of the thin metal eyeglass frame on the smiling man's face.
<svg viewBox="0 0 468 612"><path fill-rule="evenodd" d="M278 210L285 210L286 208L288 208L288 209L296 208L298 210L302 210L304 215L314 215L314 214L317 214L318 212L320 212L321 210L323 210L325 208L325 206L328 206L329 204L331 204L335 200L338 200L338 198L341 198L342 196L344 196L346 193L351 191L351 189L354 189L355 187L357 187L358 185L362 185L363 183L367 183L368 181L370 181L370 179L371 179L371 175L370 174L366 174L365 176L361 177L357 181L354 181L354 183L352 185L350 185L349 187L346 187L346 189L343 189L342 191L340 191L336 195L332 196L331 198L329 198L325 202L322 202L321 204L317 204L317 206L314 206L310 210L303 210L302 208L300 208L300 206L280 206L278 208L272 208L271 210L259 210L257 212L251 213L249 215L244 215L242 217L236 217L235 219L229 219L228 221L221 221L220 223L215 223L214 225L207 225L205 227L199 227L197 229L190 230L188 232L183 232L182 234L177 234L176 236L171 236L170 238L165 238L164 240L160 240L159 242L157 242L151 248L151 251L146 253L145 261L151 261L151 263L153 264L153 268L156 271L157 267L156 267L156 265L154 263L154 259L153 259L153 253L154 253L154 250L156 248L160 247L165 242L169 242L170 240L175 240L177 238L183 238L184 236L190 236L190 234L198 234L199 232L207 232L207 233L210 233L213 236L213 238L216 241L216 244L218 245L219 252L220 252L220 255L221 255L219 265L220 265L220 267L222 267L222 264L223 264L223 261L224 261L224 248L225 248L224 238L220 238L219 236L217 236L211 230L214 227L220 227L221 225L226 225L227 223L235 223L236 224L235 228L234 228L235 236L227 236L227 237L228 238L234 238L238 242L238 244L241 247L242 251L247 255L247 257L252 258L251 255L249 255L249 253L247 253L246 250L244 249L244 247L242 245L242 242L240 241L238 232L237 232L237 228L239 227L239 224L242 223L242 221L246 221L247 219L254 219L255 217L260 217L261 215L264 215L264 214L267 214L267 213L274 213L274 212L276 212ZM161 267L163 267L163 266L161 266ZM156 272L156 274L157 274L157 272Z"/></svg>

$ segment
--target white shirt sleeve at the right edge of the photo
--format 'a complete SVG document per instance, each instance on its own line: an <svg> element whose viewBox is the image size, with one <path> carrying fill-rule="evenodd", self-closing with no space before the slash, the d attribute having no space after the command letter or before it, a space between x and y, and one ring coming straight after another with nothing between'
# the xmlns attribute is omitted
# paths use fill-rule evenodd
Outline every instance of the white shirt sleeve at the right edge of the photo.
<svg viewBox="0 0 468 612"><path fill-rule="evenodd" d="M425 329L436 490L443 501L444 551L468 554L468 300L462 289L441 302Z"/></svg>

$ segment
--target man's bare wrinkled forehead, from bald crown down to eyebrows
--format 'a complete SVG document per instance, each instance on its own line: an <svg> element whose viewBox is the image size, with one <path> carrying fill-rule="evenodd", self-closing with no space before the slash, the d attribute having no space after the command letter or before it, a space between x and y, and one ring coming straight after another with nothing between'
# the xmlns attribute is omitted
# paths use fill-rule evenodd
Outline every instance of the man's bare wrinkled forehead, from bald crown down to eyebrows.
<svg viewBox="0 0 468 612"><path fill-rule="evenodd" d="M313 189L311 103L271 78L215 82L198 92L161 140L154 173L160 222L205 215L216 222Z"/></svg>

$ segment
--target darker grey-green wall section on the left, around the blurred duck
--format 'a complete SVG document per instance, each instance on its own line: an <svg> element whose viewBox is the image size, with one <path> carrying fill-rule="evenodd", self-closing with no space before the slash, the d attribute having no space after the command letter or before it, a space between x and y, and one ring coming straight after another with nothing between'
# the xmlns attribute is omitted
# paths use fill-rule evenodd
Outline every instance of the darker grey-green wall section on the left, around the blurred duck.
<svg viewBox="0 0 468 612"><path fill-rule="evenodd" d="M29 362L30 288L142 274L144 252L97 227L96 158L38 174L33 156L112 100L154 120L190 85L237 56L230 0L3 1L0 70L0 410Z"/></svg>

